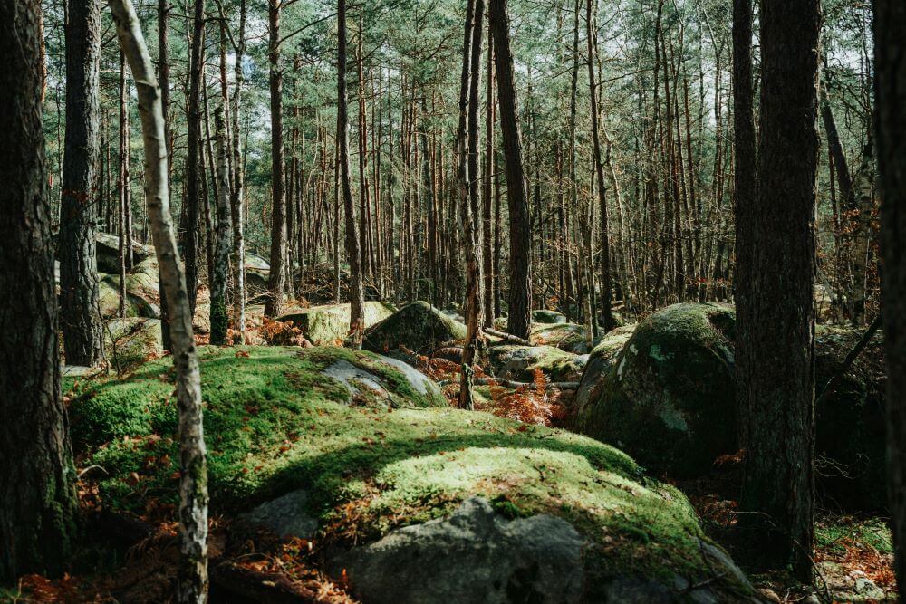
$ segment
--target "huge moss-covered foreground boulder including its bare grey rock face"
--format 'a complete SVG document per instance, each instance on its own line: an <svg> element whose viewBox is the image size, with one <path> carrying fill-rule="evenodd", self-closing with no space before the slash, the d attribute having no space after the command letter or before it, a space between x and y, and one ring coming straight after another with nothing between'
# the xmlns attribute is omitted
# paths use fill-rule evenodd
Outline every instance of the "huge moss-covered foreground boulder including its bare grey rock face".
<svg viewBox="0 0 906 604"><path fill-rule="evenodd" d="M353 395L332 377L340 361L389 400ZM612 446L434 407L369 352L200 347L199 362L211 513L317 535L323 570L346 569L362 601L755 598L685 496ZM178 503L171 367L70 393L76 454L110 473L96 480L115 512Z"/></svg>

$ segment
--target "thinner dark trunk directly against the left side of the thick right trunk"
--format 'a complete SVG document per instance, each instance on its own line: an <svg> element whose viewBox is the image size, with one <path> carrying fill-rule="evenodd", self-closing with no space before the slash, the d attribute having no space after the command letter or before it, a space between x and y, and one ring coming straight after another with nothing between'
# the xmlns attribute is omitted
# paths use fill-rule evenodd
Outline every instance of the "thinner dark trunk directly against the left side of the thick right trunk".
<svg viewBox="0 0 906 604"><path fill-rule="evenodd" d="M736 279L734 296L737 316L748 312L752 297L752 244L757 199L757 148L755 138L755 99L752 82L752 0L733 0L733 136L736 153L734 159L733 197L736 212ZM751 318L737 322L737 357L748 353L745 342L750 340L747 330L758 329ZM747 443L747 392L737 389L739 413L739 442Z"/></svg>

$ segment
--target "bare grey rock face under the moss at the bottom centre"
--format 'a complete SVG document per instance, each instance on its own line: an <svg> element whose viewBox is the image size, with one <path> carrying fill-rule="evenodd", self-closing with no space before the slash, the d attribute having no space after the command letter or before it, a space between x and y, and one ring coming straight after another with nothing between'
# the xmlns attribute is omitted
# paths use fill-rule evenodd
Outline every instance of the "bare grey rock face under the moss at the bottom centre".
<svg viewBox="0 0 906 604"><path fill-rule="evenodd" d="M578 602L583 538L549 515L507 520L473 497L446 519L335 556L366 602Z"/></svg>

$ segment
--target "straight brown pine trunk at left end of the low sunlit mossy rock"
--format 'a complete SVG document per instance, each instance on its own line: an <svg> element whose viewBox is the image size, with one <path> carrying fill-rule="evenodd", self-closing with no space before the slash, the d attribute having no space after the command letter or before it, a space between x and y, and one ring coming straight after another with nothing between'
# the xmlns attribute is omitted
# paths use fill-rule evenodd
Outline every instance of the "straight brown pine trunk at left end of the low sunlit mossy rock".
<svg viewBox="0 0 906 604"><path fill-rule="evenodd" d="M280 8L283 0L269 0L268 60L271 91L271 273L265 315L276 317L283 306L286 273L286 195L284 192L283 72L280 69Z"/></svg>

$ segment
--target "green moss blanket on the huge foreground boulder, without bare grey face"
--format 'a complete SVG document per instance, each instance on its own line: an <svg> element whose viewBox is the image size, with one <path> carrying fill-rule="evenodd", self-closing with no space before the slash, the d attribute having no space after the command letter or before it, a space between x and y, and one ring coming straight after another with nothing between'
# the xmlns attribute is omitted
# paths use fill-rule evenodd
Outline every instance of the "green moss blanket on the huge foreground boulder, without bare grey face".
<svg viewBox="0 0 906 604"><path fill-rule="evenodd" d="M368 352L201 347L199 361L212 514L235 515L301 490L304 496L293 498L299 513L315 519L323 538L345 551L353 541L374 543L393 539L403 527L448 522L443 519L478 497L505 527L542 517L568 523L582 541L583 601L742 601L753 595L702 532L686 498L644 478L612 446L432 407L401 373ZM381 373L392 397L405 405L356 401L325 374L338 361ZM178 502L171 368L171 360L151 361L128 379L89 380L70 393L76 454L84 465L109 473L99 487L101 501L113 510L140 513L152 499ZM472 580L472 570L464 570L460 582ZM433 579L422 573L426 583ZM350 580L358 590L356 578ZM634 599L617 598L626 593Z"/></svg>

